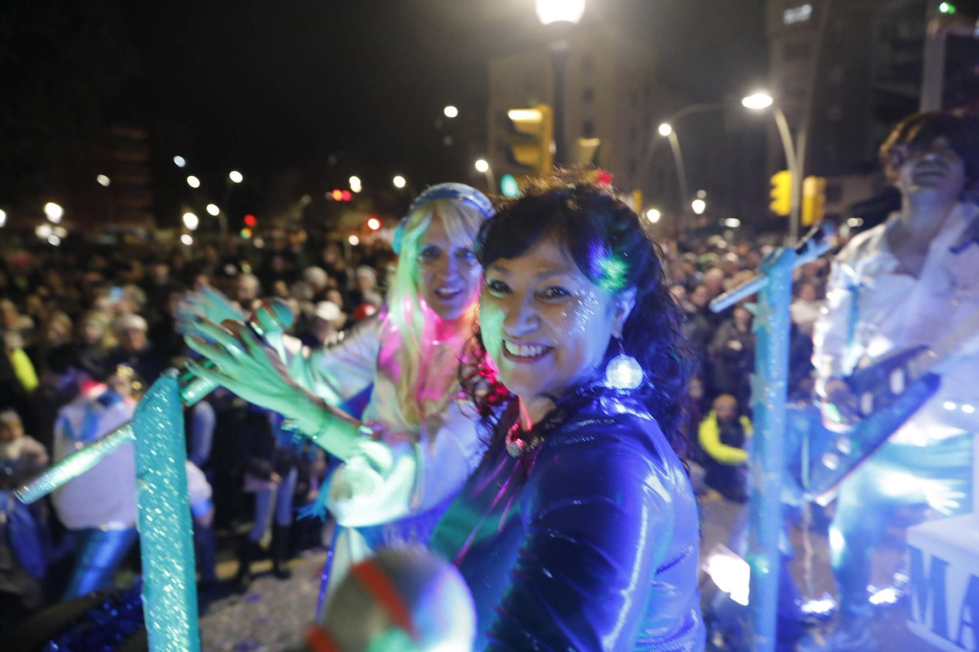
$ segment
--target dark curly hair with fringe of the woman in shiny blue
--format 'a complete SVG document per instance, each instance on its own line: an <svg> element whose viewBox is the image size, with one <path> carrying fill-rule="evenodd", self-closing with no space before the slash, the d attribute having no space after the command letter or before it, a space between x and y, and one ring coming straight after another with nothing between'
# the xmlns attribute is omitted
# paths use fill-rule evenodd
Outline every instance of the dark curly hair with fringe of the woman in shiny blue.
<svg viewBox="0 0 979 652"><path fill-rule="evenodd" d="M623 348L638 361L647 381L635 396L683 457L686 442L678 425L694 356L680 332L682 319L670 295L659 245L646 233L635 211L610 188L587 180L581 172L558 171L533 181L522 195L500 204L480 229L476 256L486 268L498 258L526 254L545 237L561 243L592 283L613 295L635 292L635 304L622 332ZM610 341L597 373L604 374L605 365L618 353L618 343ZM477 406L492 452L502 445L507 427L517 419L518 405L516 396L496 377L478 324L463 351L459 381Z"/></svg>

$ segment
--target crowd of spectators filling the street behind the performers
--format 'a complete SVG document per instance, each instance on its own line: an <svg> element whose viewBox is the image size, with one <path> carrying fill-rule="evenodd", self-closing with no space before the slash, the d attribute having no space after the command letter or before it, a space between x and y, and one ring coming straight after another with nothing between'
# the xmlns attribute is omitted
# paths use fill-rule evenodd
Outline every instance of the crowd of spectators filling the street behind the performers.
<svg viewBox="0 0 979 652"><path fill-rule="evenodd" d="M750 304L714 313L709 303L756 274L770 245L713 236L666 240L663 248L699 360L684 434L708 483L739 502L746 455L737 451L751 436L754 317ZM297 315L290 333L310 347L329 346L379 308L394 260L380 240L350 248L303 231L269 234L261 248L228 240L169 249L133 244L0 252L0 509L12 514L10 489L49 464L59 414L87 387L105 383L120 368L145 387L185 359L189 352L175 328L184 293L207 284L246 312L259 298L283 299ZM827 272L827 262L819 260L796 274L790 392L797 396L812 390L811 335ZM287 577L284 556L321 541L321 533L292 515L313 499L325 460L308 446L291 445L274 417L226 392L189 409L185 423L188 459L213 489L214 528L241 535L239 583L247 585L248 562L261 554L269 525L276 575ZM69 572L59 570L71 559L66 525L44 503L29 514L41 555L29 559L23 545L10 550L0 541L0 549L8 548L0 555L0 611L10 615L57 600L68 582ZM283 528L291 536L281 535ZM228 537L218 539L226 545ZM287 540L288 552L282 549ZM213 550L197 542L202 581L213 582Z"/></svg>

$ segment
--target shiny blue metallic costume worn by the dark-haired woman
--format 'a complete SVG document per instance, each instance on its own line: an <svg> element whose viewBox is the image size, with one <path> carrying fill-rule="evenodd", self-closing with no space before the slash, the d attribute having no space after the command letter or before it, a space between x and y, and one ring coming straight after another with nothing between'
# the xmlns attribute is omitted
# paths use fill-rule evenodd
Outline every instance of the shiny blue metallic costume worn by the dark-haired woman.
<svg viewBox="0 0 979 652"><path fill-rule="evenodd" d="M476 649L703 649L697 507L676 453L628 396L561 411L523 457L490 448L432 537L472 591Z"/></svg>

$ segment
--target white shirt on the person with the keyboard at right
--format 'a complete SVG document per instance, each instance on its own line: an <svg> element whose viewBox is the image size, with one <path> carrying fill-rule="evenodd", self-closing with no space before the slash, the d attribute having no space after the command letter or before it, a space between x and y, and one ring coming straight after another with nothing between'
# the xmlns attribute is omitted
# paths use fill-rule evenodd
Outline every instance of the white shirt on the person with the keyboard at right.
<svg viewBox="0 0 979 652"><path fill-rule="evenodd" d="M826 305L814 329L817 387L849 375L862 358L878 361L919 345L935 346L979 311L979 245L959 254L960 239L979 209L958 204L932 240L920 275L899 269L884 224L857 236L833 263ZM857 306L853 310L854 297ZM890 442L927 445L979 432L979 337L936 368L942 385ZM962 407L965 406L965 409Z"/></svg>

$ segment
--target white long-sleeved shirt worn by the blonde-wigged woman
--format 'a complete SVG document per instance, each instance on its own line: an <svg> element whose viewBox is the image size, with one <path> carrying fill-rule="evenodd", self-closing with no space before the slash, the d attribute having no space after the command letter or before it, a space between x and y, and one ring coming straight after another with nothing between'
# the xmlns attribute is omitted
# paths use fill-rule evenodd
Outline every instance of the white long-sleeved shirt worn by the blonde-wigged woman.
<svg viewBox="0 0 979 652"><path fill-rule="evenodd" d="M269 341L290 376L330 404L373 384L362 419L387 425L391 436L364 438L362 452L331 477L327 505L340 525L371 526L425 512L461 489L479 465L485 445L475 408L458 396L455 381L461 337L431 349L421 379L419 425L407 423L398 405L396 353L407 345L387 310L334 347L310 350L290 337Z"/></svg>

